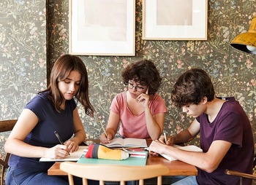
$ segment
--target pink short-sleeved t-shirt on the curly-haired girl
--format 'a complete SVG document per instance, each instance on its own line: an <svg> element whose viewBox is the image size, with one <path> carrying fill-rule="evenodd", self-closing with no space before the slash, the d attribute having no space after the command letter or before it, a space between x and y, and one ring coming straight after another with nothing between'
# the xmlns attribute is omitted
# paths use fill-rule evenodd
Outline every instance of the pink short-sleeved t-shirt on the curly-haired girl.
<svg viewBox="0 0 256 185"><path fill-rule="evenodd" d="M149 109L153 116L167 111L165 101L157 94L149 102ZM146 127L145 112L143 111L138 116L132 114L127 106L126 92L121 92L113 98L110 110L119 114L121 121L119 134L124 138L150 138Z"/></svg>

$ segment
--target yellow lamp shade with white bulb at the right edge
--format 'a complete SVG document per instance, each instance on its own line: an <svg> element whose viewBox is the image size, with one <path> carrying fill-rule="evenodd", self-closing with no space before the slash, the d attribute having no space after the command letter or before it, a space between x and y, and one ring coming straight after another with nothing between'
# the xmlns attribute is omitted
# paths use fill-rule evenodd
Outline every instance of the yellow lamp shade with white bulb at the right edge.
<svg viewBox="0 0 256 185"><path fill-rule="evenodd" d="M230 45L238 50L256 55L256 16L252 18L249 31L236 36Z"/></svg>

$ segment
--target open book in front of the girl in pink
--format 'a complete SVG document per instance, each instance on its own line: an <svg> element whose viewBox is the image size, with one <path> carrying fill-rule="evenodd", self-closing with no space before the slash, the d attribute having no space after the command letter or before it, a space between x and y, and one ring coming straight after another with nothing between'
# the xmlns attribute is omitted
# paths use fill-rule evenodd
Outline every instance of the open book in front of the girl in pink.
<svg viewBox="0 0 256 185"><path fill-rule="evenodd" d="M113 138L110 143L105 144L108 147L148 147L146 139L140 138Z"/></svg>

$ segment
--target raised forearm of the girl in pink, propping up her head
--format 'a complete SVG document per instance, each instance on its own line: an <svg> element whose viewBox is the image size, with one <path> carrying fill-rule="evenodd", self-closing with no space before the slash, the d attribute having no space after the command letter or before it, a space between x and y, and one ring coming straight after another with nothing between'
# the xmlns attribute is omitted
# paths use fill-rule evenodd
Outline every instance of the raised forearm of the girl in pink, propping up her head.
<svg viewBox="0 0 256 185"><path fill-rule="evenodd" d="M150 135L152 140L156 140L159 138L159 136L162 134L163 130L163 122L158 123L156 119L151 114L151 111L149 108L145 109L145 119L146 119L146 127L148 130L148 134ZM160 122L160 121L159 121ZM159 125L162 125L160 127Z"/></svg>

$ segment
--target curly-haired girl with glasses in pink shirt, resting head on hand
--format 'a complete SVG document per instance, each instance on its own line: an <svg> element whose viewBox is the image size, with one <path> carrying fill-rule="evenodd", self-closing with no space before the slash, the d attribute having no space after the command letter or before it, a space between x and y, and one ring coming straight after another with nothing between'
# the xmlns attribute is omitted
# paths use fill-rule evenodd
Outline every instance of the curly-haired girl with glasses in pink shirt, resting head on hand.
<svg viewBox="0 0 256 185"><path fill-rule="evenodd" d="M165 101L157 95L162 78L154 63L140 60L124 68L121 74L127 91L113 99L106 133L100 135L102 143L108 143L116 135L123 138L151 138L162 134L167 108Z"/></svg>

